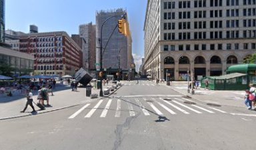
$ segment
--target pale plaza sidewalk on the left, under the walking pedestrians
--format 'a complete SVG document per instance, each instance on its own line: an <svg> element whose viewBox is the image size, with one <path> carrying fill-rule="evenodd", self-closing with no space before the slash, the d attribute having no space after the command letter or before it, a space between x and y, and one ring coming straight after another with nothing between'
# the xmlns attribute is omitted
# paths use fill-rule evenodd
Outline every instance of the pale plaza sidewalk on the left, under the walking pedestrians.
<svg viewBox="0 0 256 150"><path fill-rule="evenodd" d="M111 86L112 83L109 83L109 85L103 86L103 89ZM117 87L119 89L120 87ZM117 89L114 91L111 91L110 95L114 93ZM25 113L20 113L25 107L25 103L27 102L27 99L25 98L25 95L17 95L13 97L1 97L0 98L0 120L3 119L11 119L16 117L23 117L23 116L29 116L29 115L37 115L39 113L46 113L49 111L56 111L59 109L64 109L67 107L73 107L75 105L80 105L83 103L87 103L89 101L95 101L97 99L101 99L102 97L99 97L99 91L100 89L91 89L91 93L97 93L98 97L95 99L91 99L91 97L86 97L86 88L78 87L77 91L71 91L70 85L59 85L56 87L56 90L53 91L53 96L51 96L51 93L49 93L49 103L51 107L45 107L45 110L39 110L39 107L35 105L37 103L37 93L33 94L33 106L37 110L37 113L30 113L32 111L31 107L28 106ZM107 95L105 95L107 96ZM46 104L46 101L45 101Z"/></svg>

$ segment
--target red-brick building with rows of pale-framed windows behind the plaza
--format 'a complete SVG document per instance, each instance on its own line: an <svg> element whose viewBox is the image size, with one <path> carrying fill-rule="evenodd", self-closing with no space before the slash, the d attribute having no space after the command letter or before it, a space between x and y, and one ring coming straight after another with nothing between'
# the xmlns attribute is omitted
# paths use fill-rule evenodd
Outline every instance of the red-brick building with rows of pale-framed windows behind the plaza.
<svg viewBox="0 0 256 150"><path fill-rule="evenodd" d="M64 31L21 35L19 51L35 56L35 75L74 75L82 67L81 48Z"/></svg>

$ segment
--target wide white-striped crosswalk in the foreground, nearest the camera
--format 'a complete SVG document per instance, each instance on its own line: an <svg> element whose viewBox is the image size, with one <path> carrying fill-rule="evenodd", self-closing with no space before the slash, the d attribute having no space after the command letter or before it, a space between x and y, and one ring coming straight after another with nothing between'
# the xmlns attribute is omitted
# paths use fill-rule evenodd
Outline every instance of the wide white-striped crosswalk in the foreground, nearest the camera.
<svg viewBox="0 0 256 150"><path fill-rule="evenodd" d="M140 112L145 117L150 115L167 116L227 113L219 108L209 107L195 102L186 102L193 101L183 97L113 97L112 99L100 99L94 103L87 103L71 114L68 119L74 119L75 117L134 117Z"/></svg>

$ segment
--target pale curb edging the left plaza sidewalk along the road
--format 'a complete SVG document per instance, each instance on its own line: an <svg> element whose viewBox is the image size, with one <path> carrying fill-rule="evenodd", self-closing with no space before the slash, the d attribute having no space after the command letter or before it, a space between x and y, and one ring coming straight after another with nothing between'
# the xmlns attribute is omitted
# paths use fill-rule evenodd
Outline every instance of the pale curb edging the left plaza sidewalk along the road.
<svg viewBox="0 0 256 150"><path fill-rule="evenodd" d="M103 99L105 97L109 97L111 95L113 95L113 93L115 93L118 89L120 89L123 85L119 86L117 89L115 89L115 91L113 91L112 93L110 93L109 95L107 96L104 96L104 97L99 97L95 100L99 100L99 99ZM21 118L21 117L28 117L28 116L35 116L35 115L39 115L39 114L43 114L43 113L49 113L49 112L53 112L53 111L58 111L58 110L61 110L61 109L66 109L66 108L69 108L69 107L75 107L75 106L78 106L78 105L82 105L81 103L80 104L75 104L75 105L69 105L69 106L66 106L66 107L61 107L61 108L57 108L57 109L52 109L52 110L49 110L49 111L43 111L43 112L39 112L39 113L36 113L36 114L26 114L26 115L17 115L17 116L12 116L12 117L3 117L3 118L0 118L0 121L1 120L7 120L7 119L15 119L15 118ZM38 112L38 111L37 111Z"/></svg>

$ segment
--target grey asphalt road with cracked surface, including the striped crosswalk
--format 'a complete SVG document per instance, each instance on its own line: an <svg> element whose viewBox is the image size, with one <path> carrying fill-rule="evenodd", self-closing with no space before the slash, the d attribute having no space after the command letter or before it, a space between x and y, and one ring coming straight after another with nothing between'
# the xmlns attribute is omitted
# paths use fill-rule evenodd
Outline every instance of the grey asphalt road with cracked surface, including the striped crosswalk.
<svg viewBox="0 0 256 150"><path fill-rule="evenodd" d="M136 82L109 98L0 121L0 149L255 149L255 117L232 115L247 110Z"/></svg>

